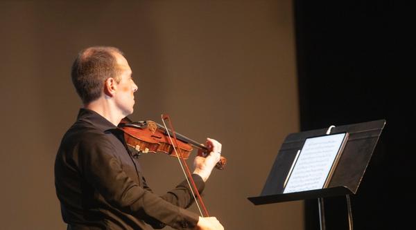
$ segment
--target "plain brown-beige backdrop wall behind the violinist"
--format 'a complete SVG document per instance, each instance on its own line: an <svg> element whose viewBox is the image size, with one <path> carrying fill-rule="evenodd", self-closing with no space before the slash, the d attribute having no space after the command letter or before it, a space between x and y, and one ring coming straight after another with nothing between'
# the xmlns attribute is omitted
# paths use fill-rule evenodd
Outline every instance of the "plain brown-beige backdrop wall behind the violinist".
<svg viewBox="0 0 416 230"><path fill-rule="evenodd" d="M53 162L80 107L71 62L93 45L125 52L139 86L132 119L168 113L179 133L223 143L229 164L205 202L225 229L303 229L302 202L247 200L299 129L290 0L1 1L0 35L2 229L64 229ZM141 162L157 193L182 180L171 157Z"/></svg>

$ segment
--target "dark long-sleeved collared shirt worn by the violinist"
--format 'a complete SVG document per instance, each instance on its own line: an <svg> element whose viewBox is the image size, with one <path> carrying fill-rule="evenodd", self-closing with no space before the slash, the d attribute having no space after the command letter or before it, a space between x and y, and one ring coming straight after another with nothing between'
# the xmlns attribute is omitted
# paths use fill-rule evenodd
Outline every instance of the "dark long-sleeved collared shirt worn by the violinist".
<svg viewBox="0 0 416 230"><path fill-rule="evenodd" d="M205 183L193 174L198 190ZM125 146L123 131L94 111L81 108L55 159L55 188L68 229L194 229L198 215L186 181L155 195L139 162Z"/></svg>

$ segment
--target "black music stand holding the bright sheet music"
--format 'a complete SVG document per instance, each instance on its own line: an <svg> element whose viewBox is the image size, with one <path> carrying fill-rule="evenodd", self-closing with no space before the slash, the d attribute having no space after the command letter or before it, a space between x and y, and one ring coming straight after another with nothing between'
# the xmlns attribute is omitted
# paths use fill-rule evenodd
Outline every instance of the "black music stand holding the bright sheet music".
<svg viewBox="0 0 416 230"><path fill-rule="evenodd" d="M358 186L363 179L365 169L379 140L381 131L385 125L385 119L345 126L331 126L312 131L291 133L281 144L275 163L270 170L263 191L257 197L250 197L253 204L271 204L293 200L306 200L318 198L320 208L320 227L324 229L323 200L324 197L356 194ZM343 153L338 164L332 172L331 179L326 188L284 193L284 184L291 171L291 167L298 151L302 148L306 138L329 133L349 133ZM349 205L349 204L348 204ZM322 206L322 207L321 207ZM350 207L348 207L350 209ZM350 210L349 210L350 213ZM351 217L349 216L349 219ZM350 224L352 221L350 222Z"/></svg>

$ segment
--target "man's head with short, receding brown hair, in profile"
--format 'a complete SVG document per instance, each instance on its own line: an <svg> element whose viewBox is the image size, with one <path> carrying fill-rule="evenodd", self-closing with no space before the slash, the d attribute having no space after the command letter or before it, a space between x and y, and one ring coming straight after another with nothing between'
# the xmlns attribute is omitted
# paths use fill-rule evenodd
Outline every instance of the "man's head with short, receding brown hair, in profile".
<svg viewBox="0 0 416 230"><path fill-rule="evenodd" d="M132 113L133 93L137 90L131 75L128 61L114 47L95 46L82 50L71 69L73 86L83 104L108 97L114 99L123 113Z"/></svg>

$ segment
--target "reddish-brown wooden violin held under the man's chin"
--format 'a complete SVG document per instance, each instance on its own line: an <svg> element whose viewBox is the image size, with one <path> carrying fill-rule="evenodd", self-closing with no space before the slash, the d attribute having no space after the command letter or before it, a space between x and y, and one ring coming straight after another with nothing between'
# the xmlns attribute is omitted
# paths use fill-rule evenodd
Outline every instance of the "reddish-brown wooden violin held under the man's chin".
<svg viewBox="0 0 416 230"><path fill-rule="evenodd" d="M200 144L189 137L185 137L180 133L173 133L170 129L166 129L162 124L157 124L151 120L132 122L128 117L121 120L119 128L124 131L124 139L130 149L134 149L138 153L157 153L162 152L173 157L183 157L184 160L194 148L198 148L198 155L207 157L211 149ZM171 141L171 137L175 135L175 144ZM175 151L175 148L177 151ZM177 156L177 153L181 154ZM216 164L216 169L224 169L227 159L223 156Z"/></svg>

